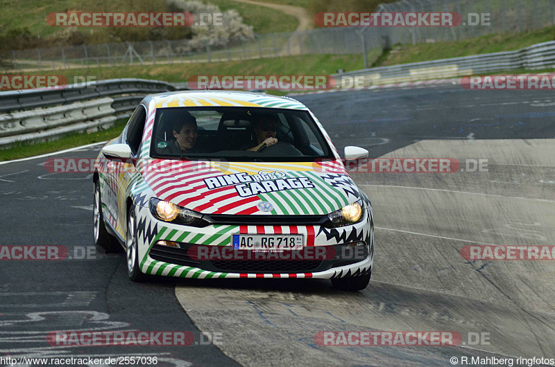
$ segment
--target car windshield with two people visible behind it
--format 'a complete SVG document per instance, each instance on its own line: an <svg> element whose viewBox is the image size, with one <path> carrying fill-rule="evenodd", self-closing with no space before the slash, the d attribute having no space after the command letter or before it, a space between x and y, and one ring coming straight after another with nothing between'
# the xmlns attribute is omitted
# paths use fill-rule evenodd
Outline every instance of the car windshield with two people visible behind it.
<svg viewBox="0 0 555 367"><path fill-rule="evenodd" d="M334 158L308 111L250 107L157 109L151 156L229 161Z"/></svg>

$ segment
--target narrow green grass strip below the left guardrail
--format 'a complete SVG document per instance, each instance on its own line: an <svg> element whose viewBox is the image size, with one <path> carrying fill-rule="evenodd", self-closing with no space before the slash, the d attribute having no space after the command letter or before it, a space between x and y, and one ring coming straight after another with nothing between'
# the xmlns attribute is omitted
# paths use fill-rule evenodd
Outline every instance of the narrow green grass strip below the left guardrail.
<svg viewBox="0 0 555 367"><path fill-rule="evenodd" d="M26 158L27 156L58 152L58 150L65 150L70 147L79 147L81 145L107 141L115 138L121 133L127 120L127 118L117 120L114 126L99 132L69 134L53 141L36 144L20 144L10 147L9 149L0 150L0 161L10 161L12 159Z"/></svg>

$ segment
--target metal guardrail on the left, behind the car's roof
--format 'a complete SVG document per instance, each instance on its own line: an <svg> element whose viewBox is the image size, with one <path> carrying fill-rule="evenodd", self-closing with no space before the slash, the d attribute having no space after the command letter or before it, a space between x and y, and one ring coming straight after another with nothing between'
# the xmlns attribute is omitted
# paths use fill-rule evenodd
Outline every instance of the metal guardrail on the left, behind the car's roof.
<svg viewBox="0 0 555 367"><path fill-rule="evenodd" d="M167 82L112 79L54 89L0 92L0 149L114 125L146 94L176 90ZM40 108L46 107L46 108Z"/></svg>

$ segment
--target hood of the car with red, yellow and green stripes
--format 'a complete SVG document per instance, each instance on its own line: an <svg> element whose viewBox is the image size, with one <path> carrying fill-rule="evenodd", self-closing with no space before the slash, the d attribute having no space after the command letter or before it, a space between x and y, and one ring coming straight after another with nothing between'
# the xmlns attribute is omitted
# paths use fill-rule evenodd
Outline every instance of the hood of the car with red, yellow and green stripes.
<svg viewBox="0 0 555 367"><path fill-rule="evenodd" d="M152 159L138 169L156 197L205 214L323 215L360 199L341 161Z"/></svg>

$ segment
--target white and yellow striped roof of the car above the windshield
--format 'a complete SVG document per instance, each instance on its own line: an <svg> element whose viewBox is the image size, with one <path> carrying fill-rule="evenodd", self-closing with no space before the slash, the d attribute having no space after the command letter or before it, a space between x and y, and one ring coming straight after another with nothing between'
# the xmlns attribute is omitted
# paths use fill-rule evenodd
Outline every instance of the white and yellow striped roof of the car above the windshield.
<svg viewBox="0 0 555 367"><path fill-rule="evenodd" d="M280 109L307 109L298 100L247 91L173 91L146 96L143 102L154 101L156 108L165 107L270 107Z"/></svg>

